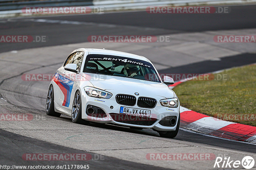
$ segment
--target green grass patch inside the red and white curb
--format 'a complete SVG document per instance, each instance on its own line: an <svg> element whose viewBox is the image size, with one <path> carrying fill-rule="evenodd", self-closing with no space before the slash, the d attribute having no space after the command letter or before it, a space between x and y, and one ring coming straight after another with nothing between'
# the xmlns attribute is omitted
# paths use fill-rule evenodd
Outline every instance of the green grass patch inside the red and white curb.
<svg viewBox="0 0 256 170"><path fill-rule="evenodd" d="M191 80L175 87L180 105L222 120L256 126L256 65L232 68L214 77L220 75L227 79Z"/></svg>

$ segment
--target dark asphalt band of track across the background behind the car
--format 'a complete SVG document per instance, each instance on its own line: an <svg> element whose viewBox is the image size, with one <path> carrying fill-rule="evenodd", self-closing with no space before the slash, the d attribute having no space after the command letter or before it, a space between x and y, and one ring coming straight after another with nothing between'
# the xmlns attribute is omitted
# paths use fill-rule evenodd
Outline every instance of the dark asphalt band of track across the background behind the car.
<svg viewBox="0 0 256 170"><path fill-rule="evenodd" d="M222 14L149 14L145 11L106 13L95 15L72 15L37 17L37 19L65 20L96 25L74 25L12 19L0 23L2 35L45 35L47 43L2 43L0 52L86 42L90 35L163 35L180 32L230 30L256 27L256 5L231 6L230 13ZM6 21L6 19L4 19ZM97 27L99 24L110 24ZM111 27L111 25L118 25ZM131 27L122 27L129 25ZM145 29L151 28L151 29Z"/></svg>

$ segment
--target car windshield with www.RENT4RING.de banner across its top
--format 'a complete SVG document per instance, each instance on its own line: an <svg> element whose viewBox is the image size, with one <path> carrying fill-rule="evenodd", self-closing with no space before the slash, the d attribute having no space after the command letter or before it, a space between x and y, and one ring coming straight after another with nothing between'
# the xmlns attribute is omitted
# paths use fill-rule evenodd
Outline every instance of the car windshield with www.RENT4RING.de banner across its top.
<svg viewBox="0 0 256 170"><path fill-rule="evenodd" d="M89 54L83 72L161 82L149 62L113 55Z"/></svg>

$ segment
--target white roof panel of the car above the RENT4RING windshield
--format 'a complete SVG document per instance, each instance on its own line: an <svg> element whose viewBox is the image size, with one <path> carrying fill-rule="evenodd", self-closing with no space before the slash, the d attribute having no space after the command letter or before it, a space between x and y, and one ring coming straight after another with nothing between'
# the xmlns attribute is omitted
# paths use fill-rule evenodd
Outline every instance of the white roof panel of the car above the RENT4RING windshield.
<svg viewBox="0 0 256 170"><path fill-rule="evenodd" d="M131 54L131 53L125 53L125 52L114 51L114 50L106 50L106 49L96 49L96 48L85 48L85 50L88 50L89 54L115 55L115 56L128 57L128 58L150 62L146 57L136 55L136 54Z"/></svg>

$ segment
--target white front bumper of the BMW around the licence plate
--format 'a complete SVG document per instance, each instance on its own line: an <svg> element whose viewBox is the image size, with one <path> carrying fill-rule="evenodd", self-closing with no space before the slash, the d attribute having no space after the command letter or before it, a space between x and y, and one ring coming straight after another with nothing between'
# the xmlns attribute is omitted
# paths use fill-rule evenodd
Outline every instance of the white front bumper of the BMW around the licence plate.
<svg viewBox="0 0 256 170"><path fill-rule="evenodd" d="M180 103L177 108L168 108L168 107L163 107L159 101L157 101L156 107L153 109L148 109L148 108L141 108L137 106L137 103L135 106L125 106L118 104L116 102L115 96L113 95L110 99L102 99L102 98L95 98L95 97L90 97L88 96L84 89L82 89L82 119L92 121L92 122L98 122L98 123L112 123L112 124L119 124L119 125L124 125L124 126L132 126L132 127L140 127L140 128L151 128L155 129L157 131L175 131L177 127L177 122L176 124L172 127L170 126L163 126L159 124L159 122L167 116L176 116L177 120L179 119L179 114L180 114ZM136 97L138 99L138 97ZM107 117L92 117L86 114L86 109L88 105L93 105L101 108L107 115ZM113 106L113 109L110 109L110 106ZM123 123L123 122L118 122L115 121L110 114L119 114L120 112L120 107L130 107L130 108L135 108L135 109L145 109L145 110L150 110L150 118L156 118L156 122L152 125L138 125L138 124L128 124L128 123ZM111 107L112 108L112 107ZM142 120L143 121L143 120Z"/></svg>

